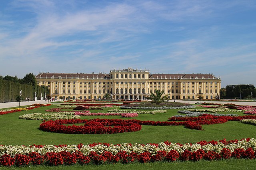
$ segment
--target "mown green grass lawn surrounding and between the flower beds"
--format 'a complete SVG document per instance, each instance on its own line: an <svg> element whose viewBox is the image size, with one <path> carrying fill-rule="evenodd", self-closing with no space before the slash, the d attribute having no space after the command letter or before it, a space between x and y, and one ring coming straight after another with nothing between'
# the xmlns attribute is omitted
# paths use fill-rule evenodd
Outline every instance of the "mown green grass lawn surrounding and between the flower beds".
<svg viewBox="0 0 256 170"><path fill-rule="evenodd" d="M49 133L39 129L42 121L24 120L18 117L27 113L46 113L46 109L54 108L56 105L48 107L39 107L29 111L20 111L16 113L9 113L0 115L0 145L77 145L83 143L84 145L90 143L160 143L163 141L170 141L172 143L195 143L201 140L227 140L255 138L256 126L247 125L237 121L228 121L223 124L202 125L204 131L187 129L184 126L147 126L143 125L142 130L131 133L119 134L105 134L105 135L80 135L80 134L60 134ZM200 107L198 107L200 108ZM107 112L111 108L104 108L103 110L91 110L91 112ZM69 109L65 109L69 110ZM71 110L71 109L70 109ZM168 110L168 113L139 114L134 119L152 120L152 121L167 121L169 117L178 114L177 109ZM242 112L236 114L243 115ZM121 116L83 116L82 119L129 119L121 118ZM116 165L89 165L87 169L213 169L220 167L220 169L240 169L255 167L255 160L221 160L221 161L199 161L199 162L156 162L147 164L116 164ZM46 168L45 166L32 167L36 169ZM84 166L60 166L47 167L49 169L82 169ZM4 169L0 167L0 169ZM27 168L21 168L27 169ZM219 168L218 168L219 169Z"/></svg>

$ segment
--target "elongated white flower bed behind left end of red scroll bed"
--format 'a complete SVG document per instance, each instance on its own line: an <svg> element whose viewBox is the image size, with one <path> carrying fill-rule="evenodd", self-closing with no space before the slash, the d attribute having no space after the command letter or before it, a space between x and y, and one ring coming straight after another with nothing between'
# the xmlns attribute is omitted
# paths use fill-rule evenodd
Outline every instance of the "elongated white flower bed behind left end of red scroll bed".
<svg viewBox="0 0 256 170"><path fill-rule="evenodd" d="M79 115L74 112L58 112L58 113L29 113L20 115L20 119L26 120L58 120L58 119L80 119Z"/></svg>

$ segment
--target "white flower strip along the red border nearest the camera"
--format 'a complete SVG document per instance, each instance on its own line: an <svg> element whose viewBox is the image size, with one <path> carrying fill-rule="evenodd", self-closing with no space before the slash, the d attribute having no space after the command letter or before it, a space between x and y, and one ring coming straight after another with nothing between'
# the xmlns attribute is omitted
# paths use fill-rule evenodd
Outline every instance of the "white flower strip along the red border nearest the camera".
<svg viewBox="0 0 256 170"><path fill-rule="evenodd" d="M223 148L230 149L231 152L234 152L235 149L242 148L244 150L248 148L252 148L254 151L256 150L256 139L252 138L249 141L246 139L242 141L238 141L238 143L230 143L224 145L223 143L217 141L216 145L207 144L207 145L200 145L200 144L185 144L185 145L178 145L177 143L171 143L170 145L166 145L165 143L161 142L158 144L158 147L155 145L141 145L134 143L133 145L129 145L128 143L122 143L120 145L110 144L110 146L105 145L96 145L94 147L90 147L89 145L83 145L80 149L78 149L77 145L68 145L66 147L56 147L54 145L44 145L42 148L37 148L35 146L24 146L24 145L1 145L0 146L0 156L4 154L9 154L10 156L15 156L16 154L28 154L30 152L38 152L39 154L46 154L47 152L62 152L67 151L73 153L75 151L80 151L84 155L88 155L90 152L94 151L98 154L101 154L103 151L109 151L112 154L116 155L119 151L126 151L128 153L136 152L140 154L142 152L150 152L152 155L155 155L157 151L165 150L169 152L170 150L176 150L179 153L184 152L184 150L189 150L191 152L197 151L199 149L204 150L205 152L214 151L220 153Z"/></svg>

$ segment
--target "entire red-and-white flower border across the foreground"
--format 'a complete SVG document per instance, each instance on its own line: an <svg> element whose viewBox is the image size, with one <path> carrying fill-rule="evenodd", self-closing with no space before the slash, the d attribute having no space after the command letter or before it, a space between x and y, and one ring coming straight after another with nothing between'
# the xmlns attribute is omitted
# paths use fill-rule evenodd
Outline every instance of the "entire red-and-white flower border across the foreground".
<svg viewBox="0 0 256 170"><path fill-rule="evenodd" d="M194 144L93 143L90 145L24 145L0 146L0 165L72 165L158 162L158 161L198 161L230 158L254 159L256 140L242 139L226 141L200 141Z"/></svg>

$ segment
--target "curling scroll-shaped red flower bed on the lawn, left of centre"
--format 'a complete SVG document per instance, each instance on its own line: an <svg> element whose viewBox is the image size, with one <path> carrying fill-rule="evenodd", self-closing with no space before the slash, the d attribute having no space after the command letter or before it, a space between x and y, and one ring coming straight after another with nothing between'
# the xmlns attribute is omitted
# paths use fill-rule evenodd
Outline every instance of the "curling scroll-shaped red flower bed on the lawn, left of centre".
<svg viewBox="0 0 256 170"><path fill-rule="evenodd" d="M63 125L76 123L84 123L84 125ZM141 125L132 121L122 119L73 119L46 121L40 124L40 129L43 131L69 134L112 134L139 131L141 129Z"/></svg>

